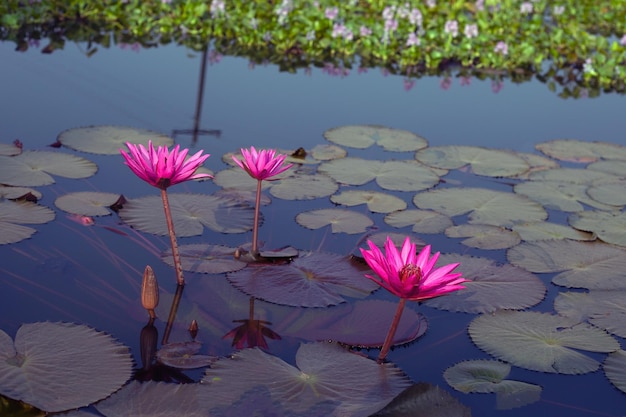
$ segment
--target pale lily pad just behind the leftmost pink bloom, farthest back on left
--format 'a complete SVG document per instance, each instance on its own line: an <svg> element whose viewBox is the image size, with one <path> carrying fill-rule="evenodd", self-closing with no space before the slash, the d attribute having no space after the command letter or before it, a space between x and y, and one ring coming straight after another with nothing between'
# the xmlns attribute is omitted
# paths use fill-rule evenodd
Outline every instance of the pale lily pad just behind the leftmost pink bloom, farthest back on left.
<svg viewBox="0 0 626 417"><path fill-rule="evenodd" d="M125 126L88 126L68 129L59 133L57 140L68 148L102 155L118 155L120 148L126 147L126 142L146 147L149 141L152 141L155 147L174 144L174 140L163 133Z"/></svg>

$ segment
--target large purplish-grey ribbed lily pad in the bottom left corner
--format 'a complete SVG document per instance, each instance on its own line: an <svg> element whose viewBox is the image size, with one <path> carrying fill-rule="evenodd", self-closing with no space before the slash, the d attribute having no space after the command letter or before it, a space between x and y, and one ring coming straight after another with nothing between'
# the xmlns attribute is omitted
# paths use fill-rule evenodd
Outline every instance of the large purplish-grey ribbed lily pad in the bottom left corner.
<svg viewBox="0 0 626 417"><path fill-rule="evenodd" d="M41 410L87 406L109 396L131 376L128 349L87 326L24 324L0 331L0 393Z"/></svg>

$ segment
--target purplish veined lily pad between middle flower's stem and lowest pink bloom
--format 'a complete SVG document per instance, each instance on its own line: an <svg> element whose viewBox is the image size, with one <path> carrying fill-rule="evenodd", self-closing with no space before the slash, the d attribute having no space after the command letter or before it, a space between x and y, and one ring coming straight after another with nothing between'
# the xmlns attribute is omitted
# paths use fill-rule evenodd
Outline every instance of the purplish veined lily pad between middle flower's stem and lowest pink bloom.
<svg viewBox="0 0 626 417"><path fill-rule="evenodd" d="M250 264L228 274L237 288L265 301L298 307L326 307L362 298L378 289L367 268L331 253L301 253L287 265Z"/></svg>

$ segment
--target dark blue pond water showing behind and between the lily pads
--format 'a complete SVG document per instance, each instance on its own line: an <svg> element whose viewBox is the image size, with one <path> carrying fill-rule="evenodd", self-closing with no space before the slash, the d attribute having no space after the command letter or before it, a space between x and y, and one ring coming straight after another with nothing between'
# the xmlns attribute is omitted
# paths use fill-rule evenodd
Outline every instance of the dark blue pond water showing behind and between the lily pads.
<svg viewBox="0 0 626 417"><path fill-rule="evenodd" d="M115 47L87 58L80 46L71 44L51 55L36 49L17 53L13 45L0 44L0 141L19 139L25 149L38 149L54 142L61 131L86 125L124 125L164 133L190 129L199 71L200 55L176 47L139 52ZM497 94L490 81L472 80L470 86L461 86L455 79L448 90L440 83L439 78L427 78L405 91L401 77L385 76L379 70L352 71L345 77L319 69L292 75L269 65L251 69L244 59L222 58L207 70L201 123L202 128L219 129L222 134L220 138L202 136L196 147L213 155L205 166L219 171L225 168L221 155L239 147L311 148L325 143L325 130L348 124L407 129L433 146L463 144L530 152L535 143L559 138L626 145L623 96L562 100L538 82L514 85L505 80ZM181 135L178 142L190 146L191 139ZM78 190L131 197L156 192L135 178L119 157L83 156L98 163L98 174L79 181L57 179L53 187L42 187L42 204L53 207L58 195ZM412 153L381 152L379 157L408 159ZM206 184L176 187L173 191L217 189ZM299 211L321 206L329 204L325 199L274 201L265 209L262 236L272 239L276 247L291 244L302 249L321 246L351 251L356 237L329 238L323 231L283 224ZM377 225L384 225L382 216L372 217ZM84 228L57 211L56 221L35 226L38 233L32 239L0 246L0 328L14 334L24 322L76 321L105 330L138 351L138 334L146 319L138 301L143 267L156 265L165 276L171 270L139 244L140 235L117 225L115 219L104 219L102 224L125 235L102 227ZM294 227L296 234L290 232ZM184 243L236 245L249 238L248 234L207 232ZM466 250L446 245L445 238L434 239L441 244L437 250ZM158 250L167 248L165 239L149 240ZM502 259L497 251L491 256ZM556 290L549 276L542 278L549 287L548 298L534 310L551 311ZM172 290L173 278L161 283ZM186 291L192 290L190 283ZM464 395L442 378L443 370L459 361L488 358L466 333L475 316L412 308L428 317L429 331L410 347L394 350L389 359L414 381L447 389L470 406L474 416L621 416L626 410L625 394L601 372L562 376L514 368L511 379L543 386L542 400L521 409L495 411L494 395ZM281 349L278 344L272 346ZM213 349L224 354L228 343Z"/></svg>

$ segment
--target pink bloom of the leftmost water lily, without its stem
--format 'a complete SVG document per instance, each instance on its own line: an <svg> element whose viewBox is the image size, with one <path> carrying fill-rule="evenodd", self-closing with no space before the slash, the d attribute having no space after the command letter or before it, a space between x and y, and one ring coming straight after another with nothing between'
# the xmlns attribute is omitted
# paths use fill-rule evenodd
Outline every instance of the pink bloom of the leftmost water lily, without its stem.
<svg viewBox="0 0 626 417"><path fill-rule="evenodd" d="M120 153L126 161L126 165L142 180L148 184L166 189L170 185L178 184L187 180L199 178L213 178L209 174L196 174L196 170L206 161L209 154L202 155L199 151L187 160L189 149L180 150L176 145L171 152L167 146L159 146L154 149L152 141L148 142L148 148L143 145L135 145L126 142L130 154L120 149Z"/></svg>

